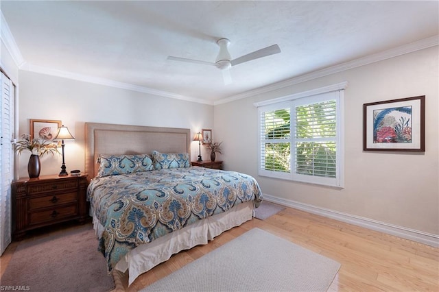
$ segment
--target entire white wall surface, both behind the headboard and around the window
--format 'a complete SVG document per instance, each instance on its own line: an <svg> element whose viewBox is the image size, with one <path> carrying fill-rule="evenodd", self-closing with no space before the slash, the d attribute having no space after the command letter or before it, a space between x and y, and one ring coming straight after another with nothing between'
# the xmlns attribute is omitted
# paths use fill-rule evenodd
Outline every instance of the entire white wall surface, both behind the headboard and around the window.
<svg viewBox="0 0 439 292"><path fill-rule="evenodd" d="M225 168L253 175L266 195L439 235L438 71L433 47L215 107L19 71L20 134L29 132L29 119L62 120L76 138L66 146L71 170L84 169L86 121L189 127L193 133L209 128L215 141L223 141ZM344 81L345 188L259 177L253 103ZM363 104L417 95L426 95L425 153L363 151ZM203 147L202 155L209 155ZM196 142L191 156L198 156ZM19 158L23 177L27 159ZM58 173L60 165L60 157L43 158L42 174Z"/></svg>

